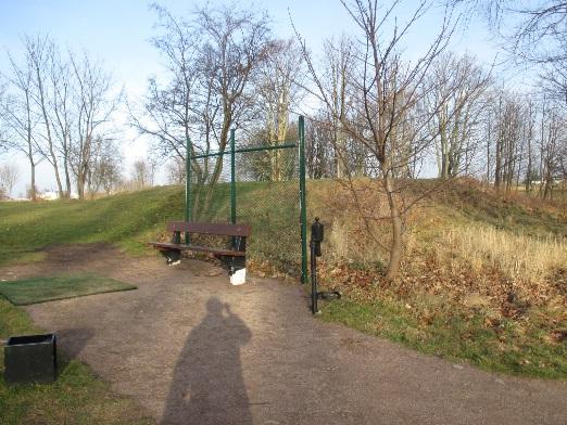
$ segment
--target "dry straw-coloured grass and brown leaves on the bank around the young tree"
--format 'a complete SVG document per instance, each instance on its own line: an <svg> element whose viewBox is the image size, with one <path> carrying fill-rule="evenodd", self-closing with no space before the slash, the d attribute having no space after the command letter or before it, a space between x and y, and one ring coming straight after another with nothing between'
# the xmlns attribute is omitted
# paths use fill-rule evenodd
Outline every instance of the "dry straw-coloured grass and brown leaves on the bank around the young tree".
<svg viewBox="0 0 567 425"><path fill-rule="evenodd" d="M388 283L382 280L381 268L376 267L387 262L388 252L368 235L363 219L387 216L388 205L378 188L373 190L367 181L356 183L353 193L350 188L332 182L314 203L322 207L322 217L332 218L326 222L324 244L329 267L326 283L332 287L360 288L364 294L361 297L366 299L371 297L368 293L371 287L388 286L408 297L419 292L464 305L482 300L489 302L490 308L505 312L517 310L526 302L566 305L567 240L515 234L469 220L465 224L459 208L465 205L487 219L491 211L504 210L506 215L529 216L537 224L542 211L530 215L531 199L525 199L525 207L519 208L516 203L493 191L481 190L474 182L456 182L434 192L432 198L424 199L407 215L400 278ZM427 189L426 183L434 184L425 182L419 189ZM357 207L354 198L360 202ZM368 222L377 241L388 246L391 237L388 220ZM448 230L440 232L440 229ZM541 233L539 229L538 233Z"/></svg>

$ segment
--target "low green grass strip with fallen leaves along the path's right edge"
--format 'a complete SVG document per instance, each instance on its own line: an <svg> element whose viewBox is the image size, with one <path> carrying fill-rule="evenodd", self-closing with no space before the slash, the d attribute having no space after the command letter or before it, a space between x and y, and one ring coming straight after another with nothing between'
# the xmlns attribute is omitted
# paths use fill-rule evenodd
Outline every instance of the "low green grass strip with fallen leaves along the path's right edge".
<svg viewBox="0 0 567 425"><path fill-rule="evenodd" d="M417 304L417 302L416 302ZM451 361L466 360L487 371L519 376L567 379L567 344L547 338L534 310L518 326L503 320L486 326L486 315L470 314L448 301L437 317L424 322L415 306L385 297L382 301L340 299L322 308L322 319L343 323L361 332L386 337L427 355Z"/></svg>

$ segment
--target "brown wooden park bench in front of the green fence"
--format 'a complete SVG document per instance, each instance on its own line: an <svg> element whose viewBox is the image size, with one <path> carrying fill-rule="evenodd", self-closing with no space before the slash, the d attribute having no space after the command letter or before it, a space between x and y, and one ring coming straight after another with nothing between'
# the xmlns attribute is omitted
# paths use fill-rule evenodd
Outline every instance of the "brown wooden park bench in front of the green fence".
<svg viewBox="0 0 567 425"><path fill-rule="evenodd" d="M172 232L172 242L150 242L165 257L168 265L178 263L181 252L193 250L199 253L211 253L229 266L229 273L245 269L247 237L252 232L249 224L223 224L223 223L197 223L187 221L171 221L167 231ZM185 233L203 234L213 236L230 236L230 248L213 248L209 246L184 244L181 235Z"/></svg>

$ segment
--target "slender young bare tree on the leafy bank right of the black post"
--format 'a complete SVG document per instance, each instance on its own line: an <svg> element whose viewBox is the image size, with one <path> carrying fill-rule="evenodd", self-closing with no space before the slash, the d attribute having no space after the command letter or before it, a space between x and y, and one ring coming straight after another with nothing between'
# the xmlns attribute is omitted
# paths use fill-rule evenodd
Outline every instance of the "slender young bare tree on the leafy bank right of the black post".
<svg viewBox="0 0 567 425"><path fill-rule="evenodd" d="M377 0L341 2L361 31L360 43L353 48L355 50L350 60L350 85L340 94L345 110L351 113L337 116L332 87L325 85L320 78L304 43L303 51L318 98L340 120L342 131L371 154L367 164L373 168L369 171L374 177L373 186L385 193L389 214L387 217L365 215L363 218L369 231L373 220L388 219L390 222L390 242L385 244L377 237L375 240L389 253L386 278L391 280L398 275L403 255L405 217L416 202L405 196L407 185L395 177L432 143L433 138L426 129L434 117L436 107L419 111L417 105L433 89L427 87L426 76L446 46L452 21L448 13L425 54L417 61L403 62L400 52L402 41L427 11L427 1L420 1L408 22L401 27L389 22L391 17L395 20L396 7L400 5L398 1L388 8L380 8ZM389 36L386 33L388 22L392 24Z"/></svg>

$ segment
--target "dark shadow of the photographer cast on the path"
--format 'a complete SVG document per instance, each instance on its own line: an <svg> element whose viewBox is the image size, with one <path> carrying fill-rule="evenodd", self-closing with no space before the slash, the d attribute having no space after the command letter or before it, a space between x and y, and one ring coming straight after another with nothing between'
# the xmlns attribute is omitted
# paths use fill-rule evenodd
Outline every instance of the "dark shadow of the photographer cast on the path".
<svg viewBox="0 0 567 425"><path fill-rule="evenodd" d="M185 342L163 424L252 424L240 348L252 334L228 305L209 299L207 312Z"/></svg>

